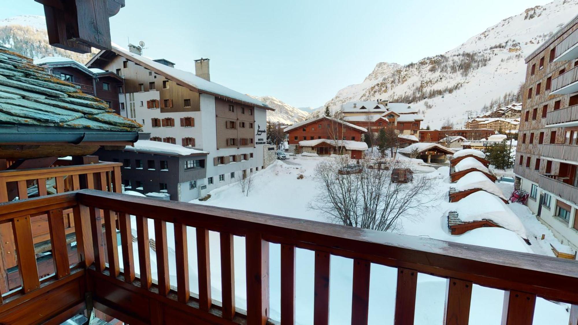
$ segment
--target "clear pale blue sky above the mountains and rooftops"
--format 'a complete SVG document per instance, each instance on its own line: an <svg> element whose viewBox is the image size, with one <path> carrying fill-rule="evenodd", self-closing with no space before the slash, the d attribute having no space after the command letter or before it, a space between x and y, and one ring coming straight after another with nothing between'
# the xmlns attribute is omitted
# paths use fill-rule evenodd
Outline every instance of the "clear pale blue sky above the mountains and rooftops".
<svg viewBox="0 0 578 325"><path fill-rule="evenodd" d="M208 57L213 82L317 107L377 62L444 53L543 1L126 0L110 25L114 43L143 40L144 55L176 68ZM0 19L21 14L44 12L32 0L0 3Z"/></svg>

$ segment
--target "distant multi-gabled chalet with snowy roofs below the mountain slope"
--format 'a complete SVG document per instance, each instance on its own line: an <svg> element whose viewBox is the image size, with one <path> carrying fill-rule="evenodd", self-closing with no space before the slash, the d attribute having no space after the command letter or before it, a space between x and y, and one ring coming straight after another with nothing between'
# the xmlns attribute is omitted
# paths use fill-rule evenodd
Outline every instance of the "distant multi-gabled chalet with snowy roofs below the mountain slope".
<svg viewBox="0 0 578 325"><path fill-rule="evenodd" d="M387 126L379 119L379 117L385 117L389 122L388 125L394 125L400 134L417 135L421 121L424 120L421 115L418 115L418 110L410 105L381 100L347 102L342 105L342 112L344 120L355 122L357 125L368 125L368 120L374 121L377 123L378 131L379 126Z"/></svg>

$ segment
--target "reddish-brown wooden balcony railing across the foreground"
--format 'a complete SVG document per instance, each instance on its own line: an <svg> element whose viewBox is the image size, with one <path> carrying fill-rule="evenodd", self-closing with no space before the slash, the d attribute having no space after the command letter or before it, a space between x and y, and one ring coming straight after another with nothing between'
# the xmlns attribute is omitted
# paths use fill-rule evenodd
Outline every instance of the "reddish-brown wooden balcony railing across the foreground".
<svg viewBox="0 0 578 325"><path fill-rule="evenodd" d="M62 209L72 209L76 225L79 262L70 267L63 253ZM48 215L53 225L55 258L54 274L40 280L29 222L39 214ZM134 243L131 215L136 216ZM104 233L99 231L101 219ZM149 227L149 220L154 227ZM395 324L413 324L420 272L447 279L445 324L468 323L473 284L505 290L504 324L531 324L536 297L573 304L571 315L578 315L578 264L554 257L182 202L159 204L149 198L97 190L1 204L0 221L14 228L23 279L21 287L2 295L0 319L8 323L60 323L82 311L89 300L100 311L131 324L262 325L279 320L293 324L296 248L315 252L311 306L315 324L328 323L332 255L353 260L354 324L368 323L371 264L397 268ZM175 230L173 283L169 283L167 227ZM187 231L187 227L195 229ZM149 229L156 239L158 263L152 265L157 279L151 276ZM191 231L196 237L196 263L188 258L187 234ZM209 265L214 254L209 254L209 231L220 237L216 252L223 301L211 297ZM234 236L244 237L240 249L246 260L246 311L235 308ZM275 293L280 297L280 319L276 320L269 319L269 243L281 245L280 274L276 275L280 292ZM133 250L133 245L138 249ZM137 256L139 272L135 272ZM198 294L189 290L190 262L198 267ZM576 324L578 317L572 316L570 322Z"/></svg>

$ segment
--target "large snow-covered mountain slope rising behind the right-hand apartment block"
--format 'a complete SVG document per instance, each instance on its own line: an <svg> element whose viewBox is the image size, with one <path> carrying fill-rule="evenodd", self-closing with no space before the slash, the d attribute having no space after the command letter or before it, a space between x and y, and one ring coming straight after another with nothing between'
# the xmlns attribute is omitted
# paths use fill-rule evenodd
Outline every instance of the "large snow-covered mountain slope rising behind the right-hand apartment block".
<svg viewBox="0 0 578 325"><path fill-rule="evenodd" d="M577 12L578 0L555 0L508 17L444 54L403 66L380 62L364 82L339 90L326 105L335 110L349 101L389 99L421 110L424 127L439 128L448 117L463 125L466 112L477 115L497 98L516 97L524 58Z"/></svg>

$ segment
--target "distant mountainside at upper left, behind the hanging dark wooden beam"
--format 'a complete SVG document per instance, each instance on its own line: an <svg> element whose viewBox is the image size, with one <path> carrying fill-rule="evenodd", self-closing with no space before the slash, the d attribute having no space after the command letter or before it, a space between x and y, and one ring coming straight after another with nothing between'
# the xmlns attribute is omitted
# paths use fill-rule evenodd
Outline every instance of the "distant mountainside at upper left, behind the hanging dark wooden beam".
<svg viewBox="0 0 578 325"><path fill-rule="evenodd" d="M31 58L68 57L87 62L92 54L79 54L50 46L44 16L15 16L0 20L0 45Z"/></svg>

